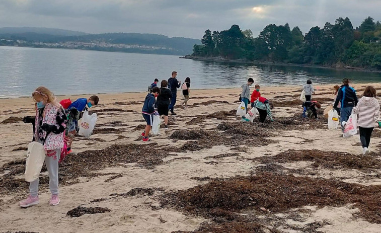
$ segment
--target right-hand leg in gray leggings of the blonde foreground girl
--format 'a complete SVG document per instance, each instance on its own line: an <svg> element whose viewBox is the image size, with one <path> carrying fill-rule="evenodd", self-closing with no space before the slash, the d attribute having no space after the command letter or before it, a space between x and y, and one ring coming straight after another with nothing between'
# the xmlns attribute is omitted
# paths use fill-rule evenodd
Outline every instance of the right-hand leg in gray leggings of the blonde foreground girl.
<svg viewBox="0 0 381 233"><path fill-rule="evenodd" d="M58 195L58 161L61 149L48 150L45 164L49 173L49 189L52 195Z"/></svg>

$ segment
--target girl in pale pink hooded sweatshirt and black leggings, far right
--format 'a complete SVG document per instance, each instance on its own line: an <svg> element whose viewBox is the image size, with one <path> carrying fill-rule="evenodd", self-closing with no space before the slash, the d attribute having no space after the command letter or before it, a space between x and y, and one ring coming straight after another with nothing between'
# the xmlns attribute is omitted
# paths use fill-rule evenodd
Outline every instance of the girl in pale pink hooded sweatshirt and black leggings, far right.
<svg viewBox="0 0 381 233"><path fill-rule="evenodd" d="M360 141L362 144L362 154L366 156L369 153L370 136L374 128L374 123L378 123L381 128L381 119L379 118L379 103L376 97L376 90L368 86L365 88L363 97L354 107L354 112L358 116L358 126L360 129Z"/></svg>

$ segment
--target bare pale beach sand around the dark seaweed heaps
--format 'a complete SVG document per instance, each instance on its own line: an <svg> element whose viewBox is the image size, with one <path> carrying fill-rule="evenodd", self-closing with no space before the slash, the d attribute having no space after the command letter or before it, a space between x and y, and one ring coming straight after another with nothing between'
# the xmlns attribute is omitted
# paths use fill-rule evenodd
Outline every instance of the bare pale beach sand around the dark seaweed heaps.
<svg viewBox="0 0 381 233"><path fill-rule="evenodd" d="M333 98L332 86L320 86L313 98ZM373 86L381 88L380 84ZM354 87L360 90L365 85L354 85ZM318 121L303 122L296 114L301 113L300 105L282 105L284 101L289 102L299 98L300 92L295 87L261 89L262 96L274 102L280 102L282 106L273 109L275 119L273 124L265 124L258 128L256 125L259 123L242 123L234 114L230 116L232 114L228 113L216 114L219 117L214 119L210 116L205 117L219 111L236 110L238 107L236 101L240 92L240 89L193 90L188 102L191 106L188 109L178 107L176 109L178 115L170 116L170 121L173 123L170 129L168 131L161 129L160 135L151 137L150 152L144 149L147 146L141 141L142 130L139 126L144 124L140 111L146 94L99 95L100 104L91 109L98 112L96 133L90 140L79 137L73 142L73 154L69 155L73 161L70 158L65 159L60 169L61 203L54 207L47 204L50 197L46 182L47 172L41 174L45 182L40 184L40 204L26 209L18 206L18 201L25 198L28 193L27 183L23 181L22 176L24 167L22 163L19 165L8 165L8 163L25 160L25 147L32 138L32 127L31 124L24 124L17 118L14 123L0 124L0 232L172 232L194 231L207 223L215 224L219 230L224 230L218 232L236 232L227 229L226 224L231 222L226 219L221 222L205 214L183 211L176 203L164 205L162 198L176 191L208 184L211 178L229 180L228 178L236 176L255 176L261 169L265 170L271 166L277 167L266 172L281 174L281 176L292 174L295 177L334 179L374 186L381 190L379 188L380 170L377 167L381 159L378 147L381 142L379 138L381 131L377 129L371 139L370 150L374 151L371 153L372 159L375 160L374 166L367 167L368 164L357 166L357 162L353 162L348 165L349 167L330 167L328 165L331 162L328 165L323 163L324 158L318 160L320 164L317 166L313 165L317 160L308 159L271 161L273 156L289 149L312 150L309 152L311 154L314 154L314 150L327 151L327 154L331 153L328 151L336 151L335 153L341 156L347 152L355 155L355 161L363 159L360 156L361 146L358 143L358 135L343 139L340 137L339 129L328 130L325 126L326 120L322 116ZM358 94L362 92L358 91ZM68 97L77 99L87 98L88 95L59 96L58 99ZM215 103L215 101L228 103ZM327 101L323 107L331 103ZM32 109L31 98L1 99L0 122L10 117L21 118L33 115ZM104 111L104 109L109 110ZM187 123L196 117L197 119L194 120L196 123ZM288 124L287 119L289 121L292 120L291 118L297 119L299 123ZM283 123L277 122L280 120ZM107 124L110 122L113 123ZM233 129L217 129L216 127L222 122L234 123ZM136 126L139 126L138 130L134 130ZM102 130L110 128L119 130ZM178 129L186 130L184 132L198 132L200 135L190 135L196 140L170 138ZM235 129L237 130L234 131ZM241 129L246 131L241 133L239 132ZM252 134L255 131L262 134ZM205 132L209 136L202 135ZM243 139L249 139L249 141L241 142ZM89 152L89 150L124 144L138 145L135 153L137 157L139 154L142 156L136 157L137 159L130 158L128 156L132 152L123 152L135 148L131 145L129 145L131 148L128 147L127 150L123 150L125 148L121 146L123 148L112 147L102 153ZM154 149L162 151L161 155L158 156L153 151ZM122 159L115 160L115 157L109 157L111 153ZM293 153L296 154L296 152ZM97 158L98 154L102 154L105 158ZM82 161L82 157L91 156L94 156L94 161L90 162L90 165L94 166L84 162L89 158L83 158ZM262 160L258 158L263 156L269 157L269 160L262 163L263 158ZM84 164L81 164L82 162ZM84 166L80 175L74 174L78 170L71 172L70 166L74 163L80 167ZM197 180L193 179L194 177L204 179ZM125 194L135 188L153 190L142 191L133 196ZM124 195L115 195L123 193ZM374 197L380 198L379 195ZM309 198L306 196L304 199L309 200ZM249 216L251 221L256 219L258 223L268 227L260 232L270 232L269 229L277 229L280 232L381 232L381 206L379 205L381 200L375 200L375 205L378 204L378 206L372 206L373 208L370 209L371 216L378 214L375 220L370 220L363 215L361 208L357 208L357 203L353 201L335 205L313 204L313 201L311 205L308 203L309 201L306 201L304 206L289 208L282 212L268 211L266 208L261 212L259 208L262 206L228 209L228 211L240 216ZM80 217L66 215L69 210L78 206L104 207L110 211L85 214Z"/></svg>

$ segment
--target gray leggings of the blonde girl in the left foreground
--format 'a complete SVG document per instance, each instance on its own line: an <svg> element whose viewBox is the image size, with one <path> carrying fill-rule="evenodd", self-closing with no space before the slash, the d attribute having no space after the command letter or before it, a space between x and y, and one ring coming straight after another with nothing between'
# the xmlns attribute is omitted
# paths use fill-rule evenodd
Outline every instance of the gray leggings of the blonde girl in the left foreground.
<svg viewBox="0 0 381 233"><path fill-rule="evenodd" d="M49 189L52 195L58 195L58 161L61 149L49 150L45 156L45 165L49 173ZM51 157L48 157L51 156ZM33 197L38 196L39 179L29 183L29 192Z"/></svg>

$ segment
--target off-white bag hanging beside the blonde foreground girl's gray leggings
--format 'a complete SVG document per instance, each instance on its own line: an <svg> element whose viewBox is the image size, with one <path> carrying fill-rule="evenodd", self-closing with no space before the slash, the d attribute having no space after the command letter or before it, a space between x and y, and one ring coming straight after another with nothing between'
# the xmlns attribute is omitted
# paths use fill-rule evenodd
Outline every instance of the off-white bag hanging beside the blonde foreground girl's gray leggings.
<svg viewBox="0 0 381 233"><path fill-rule="evenodd" d="M38 179L42 165L45 161L46 150L44 146L33 141L28 145L27 162L25 164L25 180L32 182Z"/></svg>

